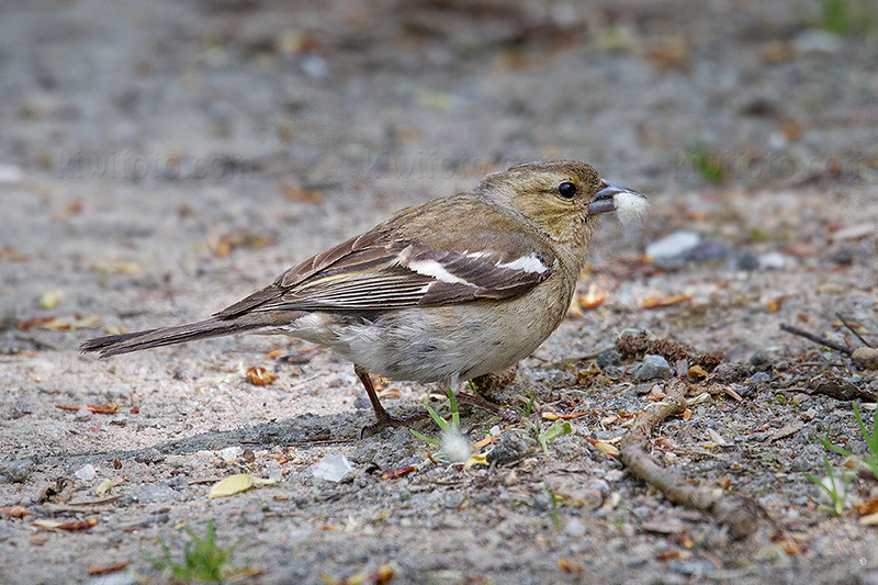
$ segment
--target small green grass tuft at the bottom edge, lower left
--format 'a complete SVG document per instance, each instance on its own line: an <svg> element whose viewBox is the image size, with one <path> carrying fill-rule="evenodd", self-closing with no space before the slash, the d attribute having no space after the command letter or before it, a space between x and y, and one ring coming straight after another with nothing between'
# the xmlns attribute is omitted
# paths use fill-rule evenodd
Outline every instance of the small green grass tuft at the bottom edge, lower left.
<svg viewBox="0 0 878 585"><path fill-rule="evenodd" d="M164 540L161 543L162 559L150 559L149 562L156 569L168 571L173 581L189 583L191 581L222 583L235 571L232 562L232 553L244 537L237 542L222 549L216 543L216 526L213 520L207 522L207 535L205 538L199 537L191 528L185 529L189 541L183 545L183 562L179 563L173 559L170 547ZM228 566L227 566L228 565Z"/></svg>

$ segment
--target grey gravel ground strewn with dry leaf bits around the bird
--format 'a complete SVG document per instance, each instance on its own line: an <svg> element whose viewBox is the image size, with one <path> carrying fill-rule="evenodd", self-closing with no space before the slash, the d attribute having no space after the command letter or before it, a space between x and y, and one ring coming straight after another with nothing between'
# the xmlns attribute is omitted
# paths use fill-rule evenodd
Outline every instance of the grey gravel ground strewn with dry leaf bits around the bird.
<svg viewBox="0 0 878 585"><path fill-rule="evenodd" d="M832 5L847 8L833 20ZM804 476L825 475L828 432L867 453L851 402L870 420L878 375L779 329L863 346L848 323L878 341L870 10L0 2L0 581L168 582L146 558L165 543L182 559L187 529L213 520L254 583L878 583L862 521L878 482L831 453L849 477L834 516ZM204 317L394 210L551 158L589 161L652 207L639 229L603 222L582 302L498 397L584 414L545 451L548 420L462 407L471 442L500 434L481 448L497 461L383 480L434 448L406 429L359 439L372 413L352 368L307 344L79 355L104 331ZM667 384L606 351L637 331L723 352L651 449L756 502L748 538L605 452ZM277 380L254 385L251 367ZM392 412L448 413L442 389L383 392ZM314 476L338 454L347 477ZM234 473L280 481L209 499Z"/></svg>

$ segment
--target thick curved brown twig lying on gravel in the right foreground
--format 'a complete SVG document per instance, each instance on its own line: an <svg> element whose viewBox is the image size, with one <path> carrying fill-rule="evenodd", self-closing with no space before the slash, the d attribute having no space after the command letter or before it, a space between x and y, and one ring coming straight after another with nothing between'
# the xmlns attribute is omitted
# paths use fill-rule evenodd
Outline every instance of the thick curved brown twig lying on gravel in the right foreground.
<svg viewBox="0 0 878 585"><path fill-rule="evenodd" d="M720 524L729 527L732 538L746 538L755 530L759 516L755 502L719 488L689 485L673 471L658 466L648 452L652 429L686 408L687 389L682 380L673 381L664 401L637 416L622 437L619 459L631 473L661 490L674 504L711 514Z"/></svg>

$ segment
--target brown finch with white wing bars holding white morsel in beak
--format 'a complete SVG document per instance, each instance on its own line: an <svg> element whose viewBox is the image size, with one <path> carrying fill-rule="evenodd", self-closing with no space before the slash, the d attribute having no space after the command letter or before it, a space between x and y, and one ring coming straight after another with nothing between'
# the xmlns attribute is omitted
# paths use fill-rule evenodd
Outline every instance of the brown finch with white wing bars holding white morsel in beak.
<svg viewBox="0 0 878 585"><path fill-rule="evenodd" d="M353 363L375 414L392 417L370 374L420 383L496 374L531 355L564 318L597 217L645 212L643 194L585 162L540 161L472 191L399 211L198 323L90 339L106 358L245 331L314 342Z"/></svg>

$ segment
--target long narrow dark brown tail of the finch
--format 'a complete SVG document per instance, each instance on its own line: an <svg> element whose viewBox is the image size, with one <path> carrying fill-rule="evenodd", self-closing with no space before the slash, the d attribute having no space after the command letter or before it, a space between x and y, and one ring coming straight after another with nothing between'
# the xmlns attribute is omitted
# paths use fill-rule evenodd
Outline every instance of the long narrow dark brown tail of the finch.
<svg viewBox="0 0 878 585"><path fill-rule="evenodd" d="M106 358L120 353L128 353L130 351L149 349L150 347L170 346L194 341L195 339L248 331L271 324L268 319L252 318L255 315L247 315L247 317L250 318L223 319L214 317L178 327L97 337L82 344L80 349L83 353L98 351L101 358Z"/></svg>

